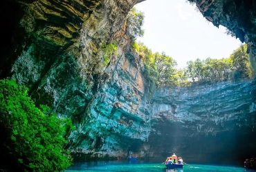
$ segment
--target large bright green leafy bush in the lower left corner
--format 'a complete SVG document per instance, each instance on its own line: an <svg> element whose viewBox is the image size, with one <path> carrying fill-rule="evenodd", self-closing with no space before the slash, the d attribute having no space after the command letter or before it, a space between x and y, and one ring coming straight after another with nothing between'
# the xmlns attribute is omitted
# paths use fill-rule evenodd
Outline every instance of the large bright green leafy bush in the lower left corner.
<svg viewBox="0 0 256 172"><path fill-rule="evenodd" d="M1 160L11 164L1 170L62 171L72 161L64 149L71 120L58 118L44 105L35 107L27 92L15 80L0 80Z"/></svg>

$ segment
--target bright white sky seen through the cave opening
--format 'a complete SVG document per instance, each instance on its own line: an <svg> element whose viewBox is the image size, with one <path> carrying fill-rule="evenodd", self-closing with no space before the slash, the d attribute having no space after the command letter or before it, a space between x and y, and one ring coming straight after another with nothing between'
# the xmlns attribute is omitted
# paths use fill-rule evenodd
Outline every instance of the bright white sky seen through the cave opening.
<svg viewBox="0 0 256 172"><path fill-rule="evenodd" d="M137 41L152 52L165 52L174 58L177 68L196 58L228 58L241 45L239 39L225 33L226 28L215 27L185 0L147 0L134 7L145 15L145 33Z"/></svg>

